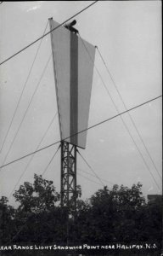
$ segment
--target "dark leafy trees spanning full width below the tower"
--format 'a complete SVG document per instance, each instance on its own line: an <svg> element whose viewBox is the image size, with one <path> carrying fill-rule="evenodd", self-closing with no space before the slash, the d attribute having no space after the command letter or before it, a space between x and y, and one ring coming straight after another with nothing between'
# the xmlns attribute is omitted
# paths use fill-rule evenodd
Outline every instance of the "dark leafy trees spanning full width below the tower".
<svg viewBox="0 0 163 256"><path fill-rule="evenodd" d="M53 181L35 174L33 183L25 182L14 192L17 208L8 205L7 197L0 199L0 245L148 242L160 247L162 209L160 203L145 201L141 183L133 184L132 188L105 186L85 201L81 195L78 186L75 213L73 207L60 207L60 194Z"/></svg>

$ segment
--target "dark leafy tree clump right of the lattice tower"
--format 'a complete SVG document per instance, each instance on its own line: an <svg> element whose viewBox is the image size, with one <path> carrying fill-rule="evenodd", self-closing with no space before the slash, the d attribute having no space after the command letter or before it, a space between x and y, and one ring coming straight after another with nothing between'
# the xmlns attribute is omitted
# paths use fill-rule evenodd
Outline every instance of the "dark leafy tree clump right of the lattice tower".
<svg viewBox="0 0 163 256"><path fill-rule="evenodd" d="M114 185L98 189L87 202L79 202L77 238L82 242L159 242L161 206L149 205L142 184L129 189Z"/></svg>

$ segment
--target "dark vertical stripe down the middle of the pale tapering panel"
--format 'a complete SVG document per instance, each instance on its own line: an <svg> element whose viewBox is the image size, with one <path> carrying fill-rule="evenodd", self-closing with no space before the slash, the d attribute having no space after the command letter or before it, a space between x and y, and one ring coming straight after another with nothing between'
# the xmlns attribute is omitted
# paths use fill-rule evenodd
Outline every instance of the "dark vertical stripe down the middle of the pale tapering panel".
<svg viewBox="0 0 163 256"><path fill-rule="evenodd" d="M78 38L70 32L70 136L78 131ZM77 135L70 137L77 145Z"/></svg>

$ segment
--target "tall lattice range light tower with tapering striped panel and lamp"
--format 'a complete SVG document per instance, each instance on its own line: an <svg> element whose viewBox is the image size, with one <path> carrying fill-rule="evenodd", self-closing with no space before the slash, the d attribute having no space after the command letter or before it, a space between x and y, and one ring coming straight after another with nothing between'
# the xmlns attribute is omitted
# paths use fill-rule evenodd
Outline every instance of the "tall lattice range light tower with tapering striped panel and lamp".
<svg viewBox="0 0 163 256"><path fill-rule="evenodd" d="M78 37L75 24L59 26L49 19L61 138L61 206L68 208L76 208L76 151L86 148L95 55L95 47Z"/></svg>

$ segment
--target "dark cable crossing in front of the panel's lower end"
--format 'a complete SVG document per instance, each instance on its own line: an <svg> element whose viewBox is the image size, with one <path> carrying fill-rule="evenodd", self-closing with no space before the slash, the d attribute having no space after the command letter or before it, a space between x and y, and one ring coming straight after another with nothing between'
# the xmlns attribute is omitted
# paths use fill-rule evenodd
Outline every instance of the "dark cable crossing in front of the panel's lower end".
<svg viewBox="0 0 163 256"><path fill-rule="evenodd" d="M104 123L106 123L106 122L108 122L108 121L110 121L110 120L112 120L112 119L117 118L117 117L120 116L121 114L127 113L128 111L132 111L132 110L134 110L134 109L136 109L136 108L140 108L140 107L142 107L142 106L148 104L149 102L153 102L153 101L159 99L160 97L162 97L162 96L157 96L157 97L155 97L155 98L153 98L153 99L151 99L151 100L149 100L149 101L147 101L147 102L143 102L143 103L141 103L141 104L139 104L139 105L137 105L137 106L135 106L135 107L133 107L133 108L130 108L130 109L126 110L126 111L123 111L123 112L121 112L121 113L115 114L114 116L112 116L112 117L110 117L110 118L108 118L108 119L104 119L103 121L98 122L98 123L96 123L95 125L91 125L91 126L87 127L87 129L83 129L82 131L78 131L78 132L76 132L75 134L72 134L72 135L69 136L69 137L65 137L63 140L67 140L67 139L69 139L70 137L74 137L74 136L76 136L77 134L80 134L80 133L82 133L82 132L84 132L84 131L91 130L91 129L93 129L94 127L97 127L98 125L103 125ZM17 161L19 161L19 160L23 160L23 159L25 159L26 157L29 157L31 154L36 154L36 153L38 153L38 152L40 152L40 151L42 151L42 150L44 150L44 149L51 148L51 147L53 147L54 145L56 145L56 144L58 144L58 143L60 143L60 142L61 142L61 141L59 140L59 141L57 141L57 142L54 142L54 143L49 144L49 145L46 146L46 147L40 148L40 149L38 149L37 151L33 151L33 152L29 153L29 154L25 154L25 155L21 156L20 158L17 158L17 159L15 159L15 160L12 160L12 161L6 163L6 164L3 165L3 166L0 166L0 171L1 171L2 168L4 168L5 166L9 166L9 165L12 165L12 164L14 164L15 162L17 162Z"/></svg>

